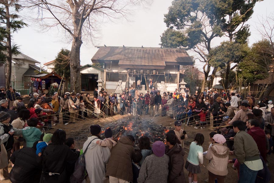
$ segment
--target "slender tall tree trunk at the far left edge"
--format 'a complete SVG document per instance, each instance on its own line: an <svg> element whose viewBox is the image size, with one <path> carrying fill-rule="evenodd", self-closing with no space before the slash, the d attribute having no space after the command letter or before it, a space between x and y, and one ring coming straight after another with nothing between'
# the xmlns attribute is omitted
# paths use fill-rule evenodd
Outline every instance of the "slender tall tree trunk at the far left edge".
<svg viewBox="0 0 274 183"><path fill-rule="evenodd" d="M11 79L11 70L12 70L12 47L11 47L11 36L10 36L10 20L9 20L9 3L8 0L5 0L5 8L6 8L6 31L7 31L7 63L5 67L6 77L6 88L10 86ZM15 74L15 73L14 73ZM15 75L14 75L15 77Z"/></svg>

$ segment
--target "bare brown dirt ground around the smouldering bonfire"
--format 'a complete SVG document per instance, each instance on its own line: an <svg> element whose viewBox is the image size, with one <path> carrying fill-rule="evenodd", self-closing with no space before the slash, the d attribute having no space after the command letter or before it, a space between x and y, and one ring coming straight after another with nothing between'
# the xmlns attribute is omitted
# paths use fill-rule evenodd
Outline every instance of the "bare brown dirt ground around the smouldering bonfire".
<svg viewBox="0 0 274 183"><path fill-rule="evenodd" d="M61 117L61 116L60 116ZM139 116L137 117L139 118ZM99 124L102 129L106 129L108 126L113 126L114 123L121 121L121 120L134 120L135 116L132 115L116 115L116 116L112 116L112 117L108 117L108 118L102 118L102 119L92 119L92 118L86 118L84 120L80 120L78 122L76 122L75 124L69 124L69 125L63 125L58 124L56 126L53 126L53 129L51 129L49 132L53 133L55 129L64 129L67 132L67 138L68 137L73 137L76 141L76 148L81 149L83 147L83 143L86 141L87 136L89 136L89 126L93 125L93 124ZM60 118L60 122L61 122L61 118ZM145 115L143 117L142 120L150 120L153 123L160 125L160 126L167 126L167 127L174 127L174 119L168 118L168 117L161 117L161 116L157 116L157 117L150 117L149 115ZM211 122L212 123L212 122ZM203 144L203 149L204 151L206 151L208 149L210 142L209 139L209 133L213 131L213 126L207 126L206 129L194 129L194 127L191 126L182 126L188 135L188 139L185 140L185 156L184 156L184 162L186 162L186 158L188 156L188 148L190 143L193 141L194 136L196 133L202 133L205 136L205 142ZM235 156L230 155L229 159L233 159ZM274 158L274 154L271 154L271 159ZM208 178L208 171L206 169L207 164L209 163L209 161L204 157L204 166L201 166L201 173L198 174L198 182L204 182L204 179ZM11 169L11 165L9 164L9 171ZM273 177L274 175L274 161L271 161L269 164L269 170L270 173ZM188 172L184 169L184 174L185 174L185 178L186 178L186 182L188 182ZM227 183L236 183L238 180L237 177L237 171L235 171L232 168L232 164L228 164L228 175L225 179L225 182ZM273 182L273 178L270 182ZM2 183L9 183L10 181L0 181ZM90 181L88 180L87 183L89 183ZM105 183L108 182L108 180L104 181Z"/></svg>

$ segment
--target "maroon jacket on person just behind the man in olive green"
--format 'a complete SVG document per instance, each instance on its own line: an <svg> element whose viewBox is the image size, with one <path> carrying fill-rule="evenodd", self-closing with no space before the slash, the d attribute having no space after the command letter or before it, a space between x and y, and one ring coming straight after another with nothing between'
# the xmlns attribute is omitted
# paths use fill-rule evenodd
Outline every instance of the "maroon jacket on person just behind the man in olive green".
<svg viewBox="0 0 274 183"><path fill-rule="evenodd" d="M262 158L266 161L266 138L264 130L260 127L253 127L248 130L248 134L255 140Z"/></svg>

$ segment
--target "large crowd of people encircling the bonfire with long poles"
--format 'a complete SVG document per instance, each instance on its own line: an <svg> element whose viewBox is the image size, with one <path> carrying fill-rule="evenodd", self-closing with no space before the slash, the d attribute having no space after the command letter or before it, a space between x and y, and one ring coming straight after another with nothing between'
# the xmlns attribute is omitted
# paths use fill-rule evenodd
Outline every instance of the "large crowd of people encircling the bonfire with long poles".
<svg viewBox="0 0 274 183"><path fill-rule="evenodd" d="M188 89L183 92L176 89L162 96L153 87L145 95L126 88L119 95L121 115L140 118L146 114L161 115L175 120L174 129L165 134L165 141L152 143L149 136L132 135L113 138L110 128L102 133L100 125L92 125L91 136L79 150L75 149L74 140L67 138L65 130L57 129L53 134L45 131L59 123L59 114L64 125L85 117L118 114L116 93L108 96L104 89L98 92L96 88L93 100L84 93L67 92L61 97L57 92L51 97L33 93L25 107L15 90L0 89L1 180L81 182L79 162L84 157L92 183L103 182L107 177L110 183L197 183L204 158L209 160L206 182L224 182L228 163L238 171L239 183L270 181L274 107L267 97L257 104L251 93L244 98L241 93L229 91L205 90L190 95ZM197 129L186 158L184 140L188 135L183 125ZM202 147L205 137L198 129L213 129L207 151ZM23 141L26 143L20 149ZM235 158L229 160L229 154ZM10 174L9 161L13 166ZM187 179L184 169L188 172Z"/></svg>

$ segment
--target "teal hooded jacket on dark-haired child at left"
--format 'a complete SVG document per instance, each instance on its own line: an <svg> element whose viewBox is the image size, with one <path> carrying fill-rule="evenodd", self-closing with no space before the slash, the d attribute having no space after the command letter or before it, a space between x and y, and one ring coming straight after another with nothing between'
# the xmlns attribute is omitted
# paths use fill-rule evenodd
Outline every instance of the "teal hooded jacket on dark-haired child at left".
<svg viewBox="0 0 274 183"><path fill-rule="evenodd" d="M22 129L23 138L26 140L27 147L33 147L33 143L37 140L40 140L42 132L36 128L27 126Z"/></svg>

